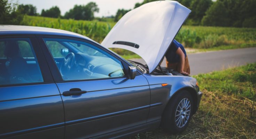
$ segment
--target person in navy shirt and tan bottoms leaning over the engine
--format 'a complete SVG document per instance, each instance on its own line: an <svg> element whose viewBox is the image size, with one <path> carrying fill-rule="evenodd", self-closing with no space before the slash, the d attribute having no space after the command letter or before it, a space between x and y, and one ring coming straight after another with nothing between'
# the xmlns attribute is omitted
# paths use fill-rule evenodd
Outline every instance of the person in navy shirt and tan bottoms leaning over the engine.
<svg viewBox="0 0 256 139"><path fill-rule="evenodd" d="M181 74L190 74L190 68L186 51L182 44L173 40L165 54L166 67L178 71Z"/></svg>

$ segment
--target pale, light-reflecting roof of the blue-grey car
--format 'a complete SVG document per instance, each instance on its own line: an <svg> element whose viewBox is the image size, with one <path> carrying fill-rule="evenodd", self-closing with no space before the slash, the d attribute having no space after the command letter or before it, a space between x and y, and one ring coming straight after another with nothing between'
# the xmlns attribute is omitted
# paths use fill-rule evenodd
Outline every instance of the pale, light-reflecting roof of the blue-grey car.
<svg viewBox="0 0 256 139"><path fill-rule="evenodd" d="M81 39L87 39L95 42L94 40L88 38L87 36L83 36L70 31L59 30L55 28L37 27L37 26L20 26L20 25L0 25L0 35L7 35L7 34L9 35L11 34L62 35L62 36L71 36L71 37L77 37ZM95 43L98 43L98 42L95 42Z"/></svg>

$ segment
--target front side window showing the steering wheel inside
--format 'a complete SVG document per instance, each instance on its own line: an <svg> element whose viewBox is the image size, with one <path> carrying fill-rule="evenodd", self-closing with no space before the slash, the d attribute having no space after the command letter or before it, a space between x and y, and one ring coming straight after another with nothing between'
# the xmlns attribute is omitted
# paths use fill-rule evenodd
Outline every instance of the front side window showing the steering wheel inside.
<svg viewBox="0 0 256 139"><path fill-rule="evenodd" d="M123 65L118 59L90 43L53 38L44 38L44 41L49 49L54 50L50 50L50 52L63 80L125 76ZM54 46L56 43L63 47ZM61 54L63 58L55 56L57 53Z"/></svg>

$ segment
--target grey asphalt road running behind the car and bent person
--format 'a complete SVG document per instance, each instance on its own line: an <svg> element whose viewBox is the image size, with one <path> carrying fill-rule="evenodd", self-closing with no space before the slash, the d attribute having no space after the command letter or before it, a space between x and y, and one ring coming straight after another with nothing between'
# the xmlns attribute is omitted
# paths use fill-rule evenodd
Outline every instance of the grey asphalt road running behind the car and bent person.
<svg viewBox="0 0 256 139"><path fill-rule="evenodd" d="M133 59L145 64L143 59ZM166 66L164 58L161 66ZM188 54L191 75L221 71L256 62L256 47Z"/></svg>

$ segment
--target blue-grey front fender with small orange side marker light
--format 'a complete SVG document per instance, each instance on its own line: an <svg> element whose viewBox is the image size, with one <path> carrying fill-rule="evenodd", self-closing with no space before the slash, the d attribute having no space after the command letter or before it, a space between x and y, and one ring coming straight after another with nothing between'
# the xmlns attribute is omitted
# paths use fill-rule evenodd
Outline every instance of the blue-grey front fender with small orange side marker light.
<svg viewBox="0 0 256 139"><path fill-rule="evenodd" d="M199 88L196 86L196 79L190 76L156 76L149 74L143 74L143 76L146 77L149 83L151 95L150 112L147 122L160 120L165 106L169 103L171 98L179 92L179 90L188 89L189 92L195 93L195 96L196 93L199 92ZM167 83L168 85L162 86L164 83Z"/></svg>

